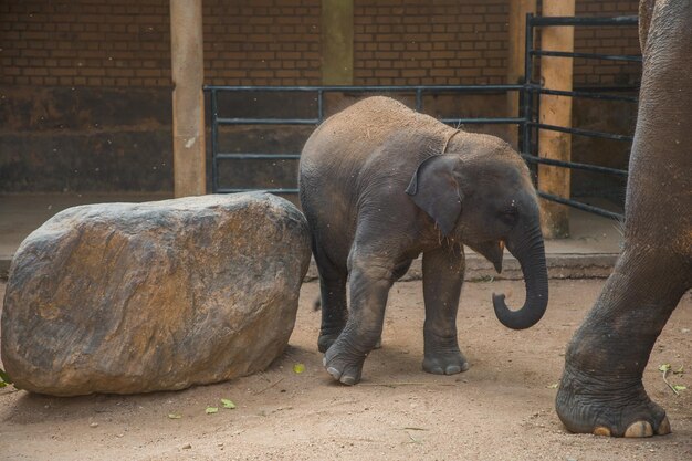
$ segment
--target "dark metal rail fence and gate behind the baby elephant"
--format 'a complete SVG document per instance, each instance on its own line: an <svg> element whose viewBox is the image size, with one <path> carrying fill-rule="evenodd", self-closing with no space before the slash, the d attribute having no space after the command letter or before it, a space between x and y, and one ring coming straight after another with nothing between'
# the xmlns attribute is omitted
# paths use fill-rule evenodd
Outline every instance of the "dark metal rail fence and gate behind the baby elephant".
<svg viewBox="0 0 692 461"><path fill-rule="evenodd" d="M318 125L325 118L325 96L331 93L342 94L397 94L410 95L415 97L415 107L423 112L423 97L432 94L483 94L483 93L510 93L518 92L521 99L520 114L508 117L445 117L443 123L450 125L471 124L505 124L517 125L520 133L520 150L522 157L530 164L542 164L555 167L579 169L586 171L614 175L616 177L627 177L627 170L608 168L598 165L589 165L574 161L562 161L538 156L538 132L542 129L569 133L570 135L606 138L618 142L631 143L632 136L602 133L576 127L562 127L547 125L539 122L539 96L558 95L574 98L591 98L600 101L637 103L637 97L617 94L616 92L605 92L602 88L583 88L576 91L558 91L543 87L535 82L532 75L536 66L536 59L541 56L563 56L581 57L587 60L607 60L623 62L641 62L638 55L610 55L599 53L567 53L534 48L534 31L542 27L636 27L637 17L620 18L541 18L527 14L526 17L526 53L525 53L525 81L523 84L514 85L454 85L454 86L205 86L209 94L211 105L211 165L212 165L212 191L214 193L229 193L251 190L252 188L233 187L222 185L219 178L219 166L228 160L297 160L300 153L256 153L256 151L230 151L220 145L219 133L223 126L312 126ZM615 88L608 88L615 90ZM282 93L282 94L310 94L314 102L314 114L303 117L224 117L219 115L219 96L222 94L253 94L253 93ZM616 94L614 94L616 93ZM296 193L295 187L265 188L273 193ZM622 216L598 207L583 203L569 198L557 197L538 190L538 195L544 199L567 205L588 212L597 213L608 218L621 219Z"/></svg>

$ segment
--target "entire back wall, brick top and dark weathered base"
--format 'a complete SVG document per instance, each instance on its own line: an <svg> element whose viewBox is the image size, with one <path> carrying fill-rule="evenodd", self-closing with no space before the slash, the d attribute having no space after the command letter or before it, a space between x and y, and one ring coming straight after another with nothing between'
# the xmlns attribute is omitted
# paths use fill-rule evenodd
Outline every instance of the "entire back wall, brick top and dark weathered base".
<svg viewBox="0 0 692 461"><path fill-rule="evenodd" d="M506 1L354 0L354 83L503 83ZM206 83L321 84L321 4L205 0ZM635 0L577 0L579 14L636 11ZM0 2L0 192L172 188L168 14L166 0ZM577 51L594 48L635 54L636 31L577 30ZM575 62L575 85L636 83L638 77L631 66ZM505 115L496 95L442 99L427 107L440 114L455 107L458 115ZM329 109L349 101L338 98ZM296 104L276 97L258 103L252 96L232 102L232 109L266 115ZM600 115L576 111L575 126ZM305 134L243 130L230 148L252 142L262 148L262 136L293 150ZM617 157L626 158L622 153ZM238 169L241 177L245 168ZM291 176L294 168L286 168L280 178Z"/></svg>

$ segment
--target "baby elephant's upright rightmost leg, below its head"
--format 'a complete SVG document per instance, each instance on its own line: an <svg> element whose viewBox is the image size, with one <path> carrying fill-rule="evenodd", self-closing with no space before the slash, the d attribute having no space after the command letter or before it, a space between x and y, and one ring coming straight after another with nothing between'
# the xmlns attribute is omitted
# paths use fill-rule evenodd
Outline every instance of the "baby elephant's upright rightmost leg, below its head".
<svg viewBox="0 0 692 461"><path fill-rule="evenodd" d="M464 254L460 245L423 253L423 370L453 375L469 369L457 340L457 311L464 275Z"/></svg>

